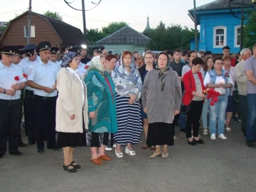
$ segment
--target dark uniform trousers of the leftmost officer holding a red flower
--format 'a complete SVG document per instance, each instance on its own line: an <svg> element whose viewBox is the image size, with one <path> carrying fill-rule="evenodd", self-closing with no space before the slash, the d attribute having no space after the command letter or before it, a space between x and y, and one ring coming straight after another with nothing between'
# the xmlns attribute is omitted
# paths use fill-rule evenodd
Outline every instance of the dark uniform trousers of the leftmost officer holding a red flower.
<svg viewBox="0 0 256 192"><path fill-rule="evenodd" d="M0 99L0 154L6 153L8 137L9 153L18 151L20 134L21 99Z"/></svg>

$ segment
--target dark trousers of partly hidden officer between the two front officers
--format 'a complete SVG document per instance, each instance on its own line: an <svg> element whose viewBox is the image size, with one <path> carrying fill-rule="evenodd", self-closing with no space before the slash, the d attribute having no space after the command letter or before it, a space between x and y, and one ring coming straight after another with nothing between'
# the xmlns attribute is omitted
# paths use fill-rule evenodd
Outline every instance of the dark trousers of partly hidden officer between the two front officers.
<svg viewBox="0 0 256 192"><path fill-rule="evenodd" d="M34 100L34 92L30 90L25 91L24 118L25 118L25 129L28 134L28 141L35 142L36 141L35 100Z"/></svg>

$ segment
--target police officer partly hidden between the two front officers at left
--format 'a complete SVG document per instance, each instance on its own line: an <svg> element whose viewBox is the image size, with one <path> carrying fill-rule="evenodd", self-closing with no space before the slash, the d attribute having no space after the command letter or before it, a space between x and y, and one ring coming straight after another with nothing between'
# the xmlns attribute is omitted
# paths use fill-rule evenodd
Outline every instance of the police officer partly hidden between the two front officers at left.
<svg viewBox="0 0 256 192"><path fill-rule="evenodd" d="M36 45L29 44L22 48L25 52L26 58L20 61L20 67L24 74L28 76L29 67L34 65L36 61L40 60L40 57L36 55ZM24 96L24 118L25 129L28 134L28 144L34 145L36 141L35 130L35 101L34 101L34 89L30 86L26 86Z"/></svg>

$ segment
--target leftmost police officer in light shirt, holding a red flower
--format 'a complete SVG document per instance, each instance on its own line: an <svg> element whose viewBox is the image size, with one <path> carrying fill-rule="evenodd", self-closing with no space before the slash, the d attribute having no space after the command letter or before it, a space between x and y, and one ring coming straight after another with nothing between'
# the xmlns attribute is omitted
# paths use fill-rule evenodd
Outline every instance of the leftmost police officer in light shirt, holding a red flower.
<svg viewBox="0 0 256 192"><path fill-rule="evenodd" d="M0 158L6 153L8 137L9 154L20 156L20 90L25 87L25 78L22 78L22 70L12 63L15 54L14 46L1 48L3 60L0 62ZM19 80L17 81L17 77ZM16 79L16 80L15 80Z"/></svg>

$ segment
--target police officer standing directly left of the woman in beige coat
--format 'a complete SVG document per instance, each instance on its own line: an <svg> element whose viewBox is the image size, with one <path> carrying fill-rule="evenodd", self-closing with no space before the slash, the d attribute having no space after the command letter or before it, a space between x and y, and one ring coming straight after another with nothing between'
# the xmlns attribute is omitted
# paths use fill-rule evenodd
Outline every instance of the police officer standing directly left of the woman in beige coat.
<svg viewBox="0 0 256 192"><path fill-rule="evenodd" d="M41 42L36 47L40 60L29 68L28 85L34 88L35 126L37 152L44 153L44 132L47 132L47 148L58 150L55 138L56 79L58 67L50 60L51 43Z"/></svg>

